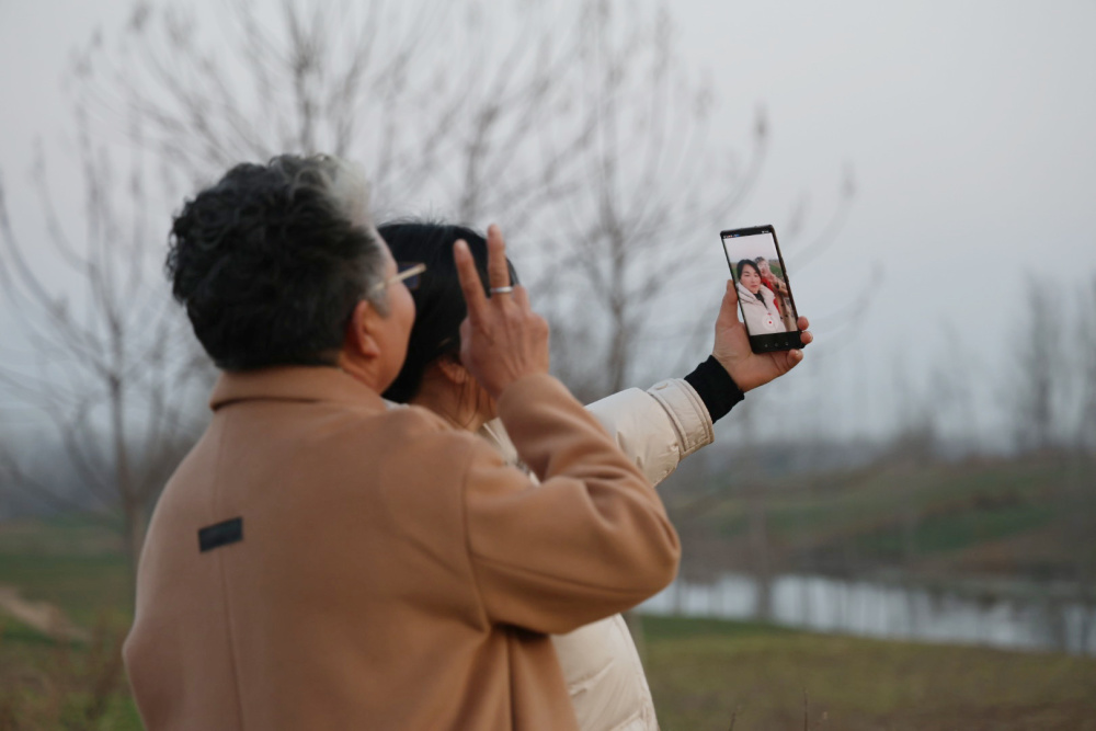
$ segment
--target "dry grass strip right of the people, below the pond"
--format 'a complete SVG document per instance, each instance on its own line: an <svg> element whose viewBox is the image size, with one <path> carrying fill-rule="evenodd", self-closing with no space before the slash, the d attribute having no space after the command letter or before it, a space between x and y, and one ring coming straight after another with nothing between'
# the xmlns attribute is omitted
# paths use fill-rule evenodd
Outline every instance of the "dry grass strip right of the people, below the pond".
<svg viewBox="0 0 1096 731"><path fill-rule="evenodd" d="M664 731L1096 730L1096 659L716 620L643 625Z"/></svg>

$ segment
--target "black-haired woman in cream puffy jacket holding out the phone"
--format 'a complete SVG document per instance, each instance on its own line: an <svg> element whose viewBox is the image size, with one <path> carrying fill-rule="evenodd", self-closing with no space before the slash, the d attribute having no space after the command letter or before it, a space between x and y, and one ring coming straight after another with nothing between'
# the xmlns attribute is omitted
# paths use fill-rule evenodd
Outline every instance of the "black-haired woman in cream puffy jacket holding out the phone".
<svg viewBox="0 0 1096 731"><path fill-rule="evenodd" d="M415 322L408 355L385 397L426 407L454 425L478 432L512 464L517 453L494 418L494 403L460 364L460 322L465 304L453 244L464 239L487 287L487 242L467 228L431 222L396 222L379 228L401 265L425 263L409 281ZM511 281L517 282L511 265ZM803 343L811 340L800 319ZM683 379L650 389L628 389L587 407L621 450L657 484L686 456L712 441L712 423L743 398L743 391L786 373L799 351L756 355L738 320L729 285L716 322L712 356ZM732 377L733 376L733 377ZM583 731L655 731L658 722L639 653L620 615L552 638L568 690Z"/></svg>

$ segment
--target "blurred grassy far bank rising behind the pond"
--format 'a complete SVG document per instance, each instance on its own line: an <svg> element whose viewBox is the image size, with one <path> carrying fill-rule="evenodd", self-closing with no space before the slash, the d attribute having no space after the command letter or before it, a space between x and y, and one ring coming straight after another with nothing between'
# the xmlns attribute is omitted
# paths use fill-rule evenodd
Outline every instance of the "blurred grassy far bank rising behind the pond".
<svg viewBox="0 0 1096 731"><path fill-rule="evenodd" d="M987 583L1061 583L1096 602L1092 455L895 454L856 469L791 473L766 472L747 456L711 464L719 458L728 453L701 452L660 487L690 583L727 573L891 575L995 597L1000 585Z"/></svg>

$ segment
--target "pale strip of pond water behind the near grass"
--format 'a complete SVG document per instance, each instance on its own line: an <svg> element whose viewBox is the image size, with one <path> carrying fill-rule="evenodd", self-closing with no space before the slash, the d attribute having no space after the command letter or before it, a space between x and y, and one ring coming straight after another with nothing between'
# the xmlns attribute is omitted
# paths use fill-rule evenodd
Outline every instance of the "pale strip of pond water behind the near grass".
<svg viewBox="0 0 1096 731"><path fill-rule="evenodd" d="M769 620L823 632L1096 655L1096 605L1069 586L899 582L786 574L769 584ZM761 584L728 573L710 584L675 581L644 614L754 619Z"/></svg>

